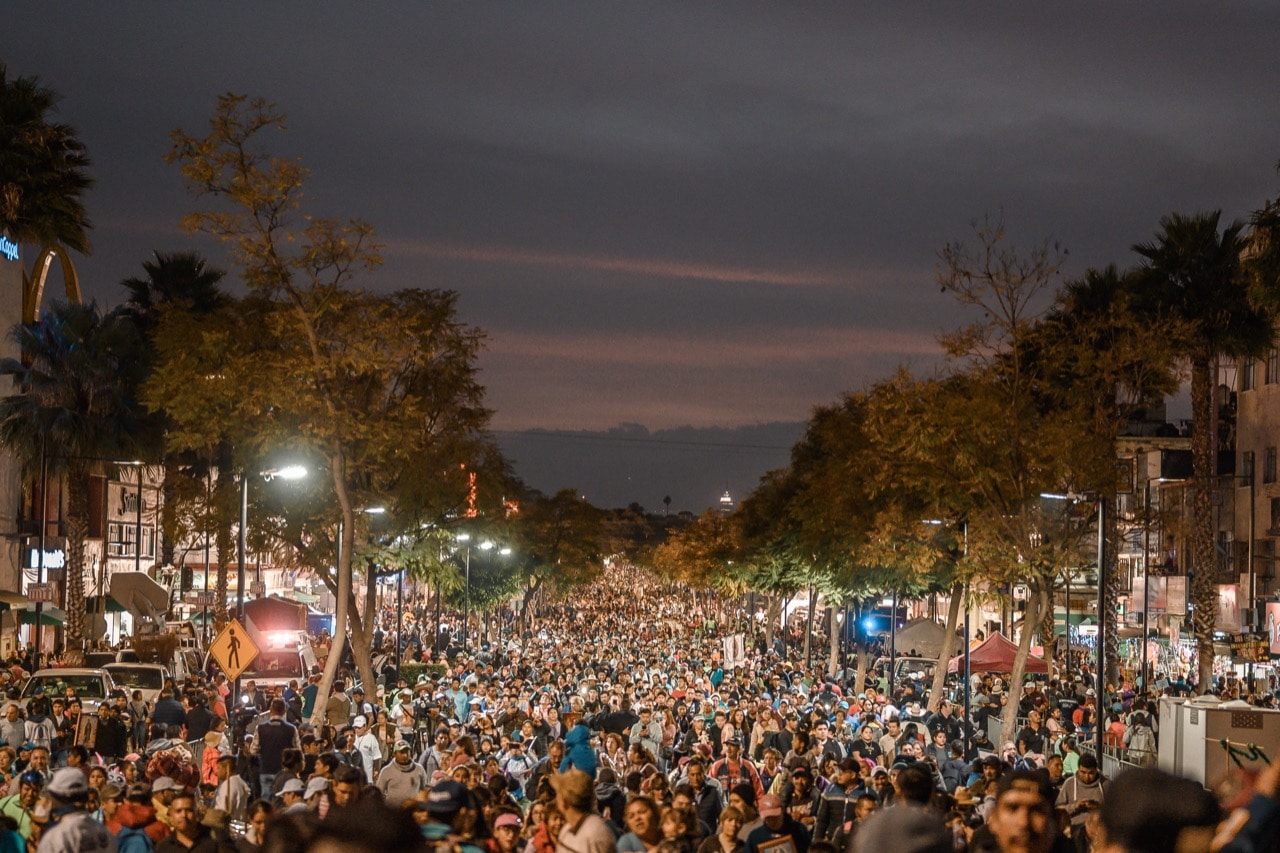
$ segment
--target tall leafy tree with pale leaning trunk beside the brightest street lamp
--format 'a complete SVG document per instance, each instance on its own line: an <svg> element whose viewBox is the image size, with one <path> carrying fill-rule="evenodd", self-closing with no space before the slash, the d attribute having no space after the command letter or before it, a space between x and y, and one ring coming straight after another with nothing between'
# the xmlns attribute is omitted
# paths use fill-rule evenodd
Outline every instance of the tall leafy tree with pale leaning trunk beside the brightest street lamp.
<svg viewBox="0 0 1280 853"><path fill-rule="evenodd" d="M284 447L321 460L321 503L329 501L333 514L310 537L340 544L337 624L352 629L357 669L371 680L351 601L355 537L367 530L357 516L388 501L396 512L421 460L435 464L442 448L468 446L484 429L489 412L475 377L481 333L457 320L452 292L379 296L351 287L381 263L372 228L300 219L306 170L262 147L264 134L283 123L265 100L224 95L206 136L172 134L170 161L207 205L184 224L230 247L250 297L238 329L188 321L186 339L177 329L163 334L147 400L178 423L172 437L179 447L209 446L216 435L207 421L221 412L250 425L248 446L237 448L242 470ZM332 534L333 519L340 535ZM337 634L317 708L342 657L344 631Z"/></svg>

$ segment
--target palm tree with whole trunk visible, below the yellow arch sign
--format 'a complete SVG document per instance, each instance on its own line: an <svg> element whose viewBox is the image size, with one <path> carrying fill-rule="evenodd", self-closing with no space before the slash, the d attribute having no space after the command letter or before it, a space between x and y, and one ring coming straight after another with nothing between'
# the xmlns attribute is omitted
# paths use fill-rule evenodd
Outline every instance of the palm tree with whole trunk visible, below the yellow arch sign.
<svg viewBox="0 0 1280 853"><path fill-rule="evenodd" d="M0 398L0 447L27 465L45 451L50 469L65 476L65 651L76 656L83 642L90 476L104 460L131 456L146 432L134 400L138 336L96 305L55 304L10 337L23 357L0 360L0 375L15 387Z"/></svg>

